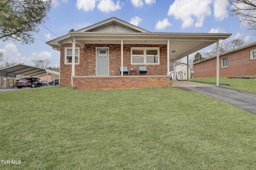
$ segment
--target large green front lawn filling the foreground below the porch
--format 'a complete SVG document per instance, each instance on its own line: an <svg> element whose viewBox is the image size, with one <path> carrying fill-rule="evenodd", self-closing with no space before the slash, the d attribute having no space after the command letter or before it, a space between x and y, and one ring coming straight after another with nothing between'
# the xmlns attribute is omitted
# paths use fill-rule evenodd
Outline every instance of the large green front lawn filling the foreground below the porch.
<svg viewBox="0 0 256 170"><path fill-rule="evenodd" d="M0 92L0 169L256 169L256 115L179 89Z"/></svg>

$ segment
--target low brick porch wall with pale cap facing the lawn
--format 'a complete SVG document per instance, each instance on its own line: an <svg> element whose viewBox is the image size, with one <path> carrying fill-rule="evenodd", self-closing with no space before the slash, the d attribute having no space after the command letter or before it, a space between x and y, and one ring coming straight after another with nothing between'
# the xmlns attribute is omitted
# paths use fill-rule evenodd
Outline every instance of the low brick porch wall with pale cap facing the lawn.
<svg viewBox="0 0 256 170"><path fill-rule="evenodd" d="M73 76L74 90L140 89L170 85L170 76Z"/></svg>

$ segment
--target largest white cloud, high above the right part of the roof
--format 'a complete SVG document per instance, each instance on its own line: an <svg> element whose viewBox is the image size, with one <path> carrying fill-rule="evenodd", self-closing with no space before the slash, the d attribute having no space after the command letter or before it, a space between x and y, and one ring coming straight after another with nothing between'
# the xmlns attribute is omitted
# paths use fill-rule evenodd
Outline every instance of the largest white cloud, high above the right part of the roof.
<svg viewBox="0 0 256 170"><path fill-rule="evenodd" d="M168 16L182 20L182 28L191 27L196 18L195 27L202 27L204 18L211 15L211 0L175 0L170 5Z"/></svg>

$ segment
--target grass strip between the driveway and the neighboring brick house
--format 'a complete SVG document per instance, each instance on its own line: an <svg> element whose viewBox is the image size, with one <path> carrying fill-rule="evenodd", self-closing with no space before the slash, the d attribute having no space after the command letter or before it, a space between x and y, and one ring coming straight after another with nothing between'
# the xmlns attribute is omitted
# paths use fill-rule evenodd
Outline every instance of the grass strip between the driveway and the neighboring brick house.
<svg viewBox="0 0 256 170"><path fill-rule="evenodd" d="M202 78L192 78L191 81L202 81L202 82L214 82L216 83L216 77L202 77ZM222 87L233 88L236 90L242 90L245 92L256 93L256 79L236 79L236 78L226 78L220 77L219 83L230 84L229 86L221 85ZM212 84L216 86L216 84Z"/></svg>

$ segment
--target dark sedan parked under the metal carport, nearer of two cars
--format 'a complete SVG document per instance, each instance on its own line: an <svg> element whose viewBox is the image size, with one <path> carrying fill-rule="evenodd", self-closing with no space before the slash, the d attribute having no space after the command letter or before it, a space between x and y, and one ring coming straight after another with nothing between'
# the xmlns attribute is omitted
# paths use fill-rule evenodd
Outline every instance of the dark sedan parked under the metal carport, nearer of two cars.
<svg viewBox="0 0 256 170"><path fill-rule="evenodd" d="M22 78L20 80L16 80L15 87L22 88L22 87L40 87L40 86L47 86L47 83L39 78Z"/></svg>

